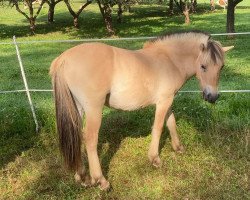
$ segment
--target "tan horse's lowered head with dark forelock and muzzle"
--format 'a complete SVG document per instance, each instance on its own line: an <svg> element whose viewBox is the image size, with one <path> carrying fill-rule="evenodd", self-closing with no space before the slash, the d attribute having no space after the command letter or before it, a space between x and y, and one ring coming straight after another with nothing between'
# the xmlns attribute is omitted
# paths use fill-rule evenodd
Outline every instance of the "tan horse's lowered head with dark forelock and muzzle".
<svg viewBox="0 0 250 200"><path fill-rule="evenodd" d="M222 47L212 39L209 39L207 44L201 44L196 77L200 81L203 98L210 103L214 103L219 97L218 82L224 65L224 53L231 48L233 46Z"/></svg>

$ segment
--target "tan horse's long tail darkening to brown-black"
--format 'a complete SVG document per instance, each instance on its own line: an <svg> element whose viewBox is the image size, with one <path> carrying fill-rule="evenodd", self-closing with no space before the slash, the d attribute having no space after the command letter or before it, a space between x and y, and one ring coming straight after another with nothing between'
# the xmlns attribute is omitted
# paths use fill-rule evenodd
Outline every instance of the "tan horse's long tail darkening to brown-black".
<svg viewBox="0 0 250 200"><path fill-rule="evenodd" d="M64 78L64 62L55 59L50 67L52 77L59 147L65 165L77 171L81 167L82 119Z"/></svg>

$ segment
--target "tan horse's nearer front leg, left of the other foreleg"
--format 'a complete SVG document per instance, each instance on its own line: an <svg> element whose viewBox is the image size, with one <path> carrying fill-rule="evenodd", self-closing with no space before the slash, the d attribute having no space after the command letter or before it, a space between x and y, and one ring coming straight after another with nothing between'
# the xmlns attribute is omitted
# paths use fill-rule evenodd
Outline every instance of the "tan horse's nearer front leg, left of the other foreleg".
<svg viewBox="0 0 250 200"><path fill-rule="evenodd" d="M172 102L173 97L168 98L166 101L160 101L158 104L156 104L155 120L152 130L152 140L148 151L149 160L156 167L159 167L161 165L161 160L159 157L159 143L165 117L169 108L171 107Z"/></svg>

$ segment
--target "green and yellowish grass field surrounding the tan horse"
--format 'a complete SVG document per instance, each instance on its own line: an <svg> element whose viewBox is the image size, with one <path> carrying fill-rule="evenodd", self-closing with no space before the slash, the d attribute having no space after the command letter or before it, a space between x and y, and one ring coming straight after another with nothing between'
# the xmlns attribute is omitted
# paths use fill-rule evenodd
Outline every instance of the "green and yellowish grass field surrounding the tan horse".
<svg viewBox="0 0 250 200"><path fill-rule="evenodd" d="M226 12L209 12L201 1L191 15L190 26L183 16L167 16L157 5L134 7L122 24L114 23L118 37L155 36L166 31L200 29L225 32ZM76 5L76 7L78 4ZM206 9L206 10L205 10ZM26 20L14 8L0 7L1 42L107 37L95 4L80 18L81 28L61 3L55 23L46 23L47 7L38 17L36 35L29 34ZM2 14L4 13L4 14ZM236 30L250 30L250 2L236 9ZM214 37L235 48L226 56L220 89L250 89L250 39ZM107 42L138 49L143 41ZM30 88L50 89L51 61L75 44L20 44ZM15 47L0 45L0 91L23 89ZM198 89L191 79L183 90ZM24 93L0 94L0 199L249 199L250 94L223 93L215 105L200 94L177 94L173 110L185 153L173 152L169 133L161 139L162 167L155 169L147 159L154 107L133 112L105 108L99 139L103 172L112 184L108 193L83 188L62 166L55 131L51 93L32 93L40 125L39 134ZM85 160L86 161L86 160Z"/></svg>

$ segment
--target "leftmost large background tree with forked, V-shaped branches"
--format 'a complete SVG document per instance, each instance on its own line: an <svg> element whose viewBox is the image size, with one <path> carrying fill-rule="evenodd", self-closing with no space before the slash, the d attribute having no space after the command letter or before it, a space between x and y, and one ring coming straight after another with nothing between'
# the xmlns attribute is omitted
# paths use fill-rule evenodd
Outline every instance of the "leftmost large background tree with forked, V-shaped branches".
<svg viewBox="0 0 250 200"><path fill-rule="evenodd" d="M35 12L34 14L34 8L33 8L33 5L34 5L34 2L33 0L24 0L24 3L27 5L28 9L29 9L29 15L27 13L25 13L24 11L22 11L19 7L19 3L20 1L18 0L11 0L10 3L15 6L16 10L21 13L30 23L30 30L31 32L34 34L35 33L35 27L36 27L36 18L37 16L39 15L42 7L43 7L43 4L45 3L45 0L41 0L39 2L39 7L37 9L37 11Z"/></svg>

